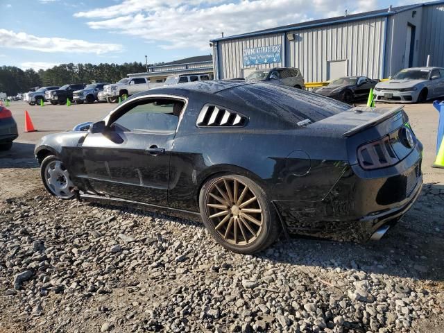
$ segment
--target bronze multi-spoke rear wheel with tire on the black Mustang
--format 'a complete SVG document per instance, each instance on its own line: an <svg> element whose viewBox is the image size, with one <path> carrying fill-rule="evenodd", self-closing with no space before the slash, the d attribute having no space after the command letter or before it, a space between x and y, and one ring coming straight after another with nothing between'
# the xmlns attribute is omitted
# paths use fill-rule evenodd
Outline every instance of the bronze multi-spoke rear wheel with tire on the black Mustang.
<svg viewBox="0 0 444 333"><path fill-rule="evenodd" d="M266 194L244 176L219 176L200 190L205 227L223 247L251 254L270 246L279 235L275 212Z"/></svg>

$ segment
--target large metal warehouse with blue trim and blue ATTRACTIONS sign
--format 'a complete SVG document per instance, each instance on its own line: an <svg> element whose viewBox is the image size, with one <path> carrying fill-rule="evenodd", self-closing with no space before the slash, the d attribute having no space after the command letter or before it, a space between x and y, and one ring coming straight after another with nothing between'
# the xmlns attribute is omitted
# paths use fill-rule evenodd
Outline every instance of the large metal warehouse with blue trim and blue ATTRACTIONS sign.
<svg viewBox="0 0 444 333"><path fill-rule="evenodd" d="M406 67L444 67L444 1L386 8L211 40L216 78L297 67L306 82L387 78Z"/></svg>

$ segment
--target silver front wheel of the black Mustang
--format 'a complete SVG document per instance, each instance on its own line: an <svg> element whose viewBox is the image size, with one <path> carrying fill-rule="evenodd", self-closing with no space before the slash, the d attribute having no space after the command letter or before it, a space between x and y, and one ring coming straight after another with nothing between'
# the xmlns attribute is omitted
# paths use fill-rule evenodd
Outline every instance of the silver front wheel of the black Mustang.
<svg viewBox="0 0 444 333"><path fill-rule="evenodd" d="M74 185L69 172L58 157L49 155L44 158L40 166L40 176L44 187L53 196L65 200L74 198Z"/></svg>

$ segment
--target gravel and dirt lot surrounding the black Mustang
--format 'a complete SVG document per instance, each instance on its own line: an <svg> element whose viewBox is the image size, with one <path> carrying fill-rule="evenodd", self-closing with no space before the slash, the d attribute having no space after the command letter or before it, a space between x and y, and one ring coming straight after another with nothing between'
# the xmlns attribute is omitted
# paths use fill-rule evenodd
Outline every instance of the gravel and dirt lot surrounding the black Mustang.
<svg viewBox="0 0 444 333"><path fill-rule="evenodd" d="M407 112L426 184L386 237L281 239L256 256L223 250L198 221L52 198L35 137L19 137L0 155L0 332L442 332L437 112Z"/></svg>

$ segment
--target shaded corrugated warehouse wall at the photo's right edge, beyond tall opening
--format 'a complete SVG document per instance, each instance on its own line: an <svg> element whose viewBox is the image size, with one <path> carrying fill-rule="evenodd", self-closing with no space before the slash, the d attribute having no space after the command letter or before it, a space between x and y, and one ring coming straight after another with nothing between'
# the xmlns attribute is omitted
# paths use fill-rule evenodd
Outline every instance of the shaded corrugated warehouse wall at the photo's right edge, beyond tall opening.
<svg viewBox="0 0 444 333"><path fill-rule="evenodd" d="M432 66L444 67L444 5L425 6L422 10L422 34L420 40L420 63L432 58Z"/></svg>

